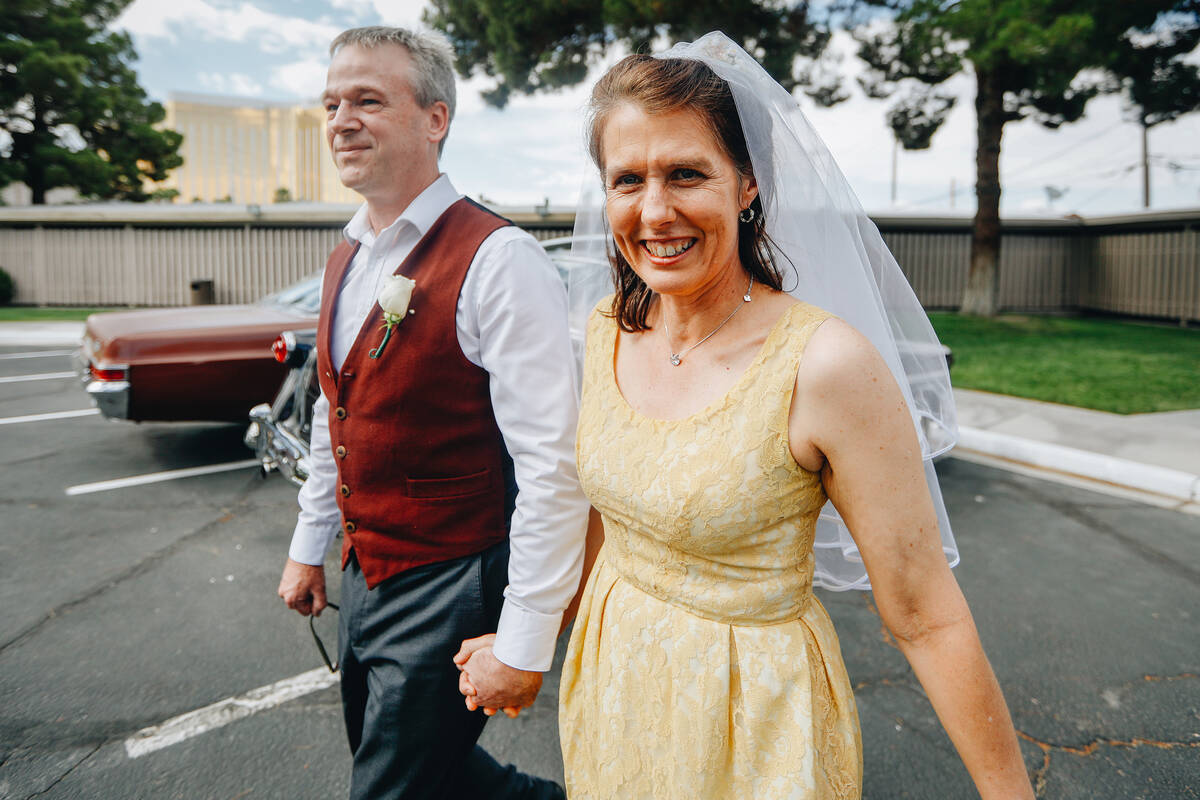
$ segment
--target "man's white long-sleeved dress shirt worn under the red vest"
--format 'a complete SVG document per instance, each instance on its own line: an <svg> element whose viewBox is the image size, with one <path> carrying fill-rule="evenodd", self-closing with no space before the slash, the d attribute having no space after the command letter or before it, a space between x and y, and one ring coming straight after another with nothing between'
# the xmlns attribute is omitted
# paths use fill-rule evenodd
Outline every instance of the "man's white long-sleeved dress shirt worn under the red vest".
<svg viewBox="0 0 1200 800"><path fill-rule="evenodd" d="M362 205L344 228L360 242L337 297L330 356L341 369L385 276L408 257L460 199L445 175L376 235ZM509 585L494 655L517 669L545 672L554 656L563 610L583 565L588 501L575 471L578 404L566 330L566 293L545 251L508 225L480 246L458 295L458 344L487 371L496 422L512 457L518 493L509 543ZM337 465L329 437L329 399L313 407L308 479L288 555L323 564L341 529Z"/></svg>

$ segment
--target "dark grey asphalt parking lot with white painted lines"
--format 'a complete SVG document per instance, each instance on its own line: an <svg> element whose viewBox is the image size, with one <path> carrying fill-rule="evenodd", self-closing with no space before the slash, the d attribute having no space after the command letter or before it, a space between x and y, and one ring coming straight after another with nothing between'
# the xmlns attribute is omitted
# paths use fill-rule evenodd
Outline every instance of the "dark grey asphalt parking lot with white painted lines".
<svg viewBox="0 0 1200 800"><path fill-rule="evenodd" d="M143 482L246 461L242 428L46 416L86 411L68 371L62 348L0 348L0 798L344 796L337 690L275 597L295 489L244 465ZM940 471L1039 795L1200 798L1200 517ZM821 597L864 796L974 796L870 595ZM487 746L560 776L556 696L552 674Z"/></svg>

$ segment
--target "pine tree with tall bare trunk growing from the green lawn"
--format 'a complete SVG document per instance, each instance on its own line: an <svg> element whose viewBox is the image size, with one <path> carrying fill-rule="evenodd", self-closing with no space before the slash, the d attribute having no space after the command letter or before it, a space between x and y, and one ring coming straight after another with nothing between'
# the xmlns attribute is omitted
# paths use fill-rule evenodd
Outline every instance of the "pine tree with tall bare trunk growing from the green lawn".
<svg viewBox="0 0 1200 800"><path fill-rule="evenodd" d="M1178 24L1181 10L1195 14L1195 1L859 0L860 8L876 13L858 34L876 94L902 83L936 86L960 72L974 76L978 205L965 313L997 311L1004 126L1027 116L1051 128L1078 120L1092 97L1110 90L1102 71L1122 37L1130 29Z"/></svg>

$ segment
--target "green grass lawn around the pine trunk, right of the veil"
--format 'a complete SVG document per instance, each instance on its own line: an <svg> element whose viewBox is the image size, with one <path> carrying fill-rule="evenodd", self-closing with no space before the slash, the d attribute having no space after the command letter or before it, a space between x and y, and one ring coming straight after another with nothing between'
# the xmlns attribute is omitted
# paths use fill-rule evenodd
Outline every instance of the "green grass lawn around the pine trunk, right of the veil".
<svg viewBox="0 0 1200 800"><path fill-rule="evenodd" d="M1139 414L1200 408L1200 330L1088 317L929 315L961 389Z"/></svg>

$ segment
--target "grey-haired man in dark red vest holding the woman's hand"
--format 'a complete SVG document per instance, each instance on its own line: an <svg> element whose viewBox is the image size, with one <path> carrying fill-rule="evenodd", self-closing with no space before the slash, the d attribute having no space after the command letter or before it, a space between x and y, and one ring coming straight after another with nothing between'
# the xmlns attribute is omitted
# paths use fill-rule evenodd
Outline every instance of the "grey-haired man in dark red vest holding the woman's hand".
<svg viewBox="0 0 1200 800"><path fill-rule="evenodd" d="M325 266L322 396L278 594L320 613L341 529L352 798L563 796L475 745L486 720L464 705L452 657L494 631L468 674L515 714L536 697L578 582L588 506L565 294L528 234L438 172L449 44L361 28L330 55L326 136L366 201ZM376 301L392 273L415 288L383 343Z"/></svg>

